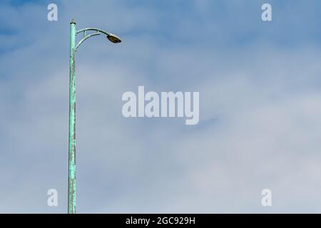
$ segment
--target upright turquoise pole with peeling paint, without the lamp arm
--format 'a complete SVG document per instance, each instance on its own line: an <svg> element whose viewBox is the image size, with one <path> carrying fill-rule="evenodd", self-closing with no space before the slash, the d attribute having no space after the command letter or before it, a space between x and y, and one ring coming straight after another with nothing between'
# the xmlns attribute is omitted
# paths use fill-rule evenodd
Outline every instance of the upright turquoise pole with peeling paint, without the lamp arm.
<svg viewBox="0 0 321 228"><path fill-rule="evenodd" d="M70 22L68 214L76 213L76 22Z"/></svg>

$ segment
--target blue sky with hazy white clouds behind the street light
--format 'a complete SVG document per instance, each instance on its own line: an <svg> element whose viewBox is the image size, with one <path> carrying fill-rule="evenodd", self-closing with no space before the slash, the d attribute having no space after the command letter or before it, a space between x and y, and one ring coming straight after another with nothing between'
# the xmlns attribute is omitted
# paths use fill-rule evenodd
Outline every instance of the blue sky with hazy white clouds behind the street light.
<svg viewBox="0 0 321 228"><path fill-rule="evenodd" d="M58 5L58 21L47 6ZM261 6L272 4L272 22ZM0 3L0 212L65 213L69 21L80 213L321 212L321 3ZM199 91L200 122L123 118L121 95ZM58 190L58 207L47 190ZM272 190L272 207L261 191Z"/></svg>

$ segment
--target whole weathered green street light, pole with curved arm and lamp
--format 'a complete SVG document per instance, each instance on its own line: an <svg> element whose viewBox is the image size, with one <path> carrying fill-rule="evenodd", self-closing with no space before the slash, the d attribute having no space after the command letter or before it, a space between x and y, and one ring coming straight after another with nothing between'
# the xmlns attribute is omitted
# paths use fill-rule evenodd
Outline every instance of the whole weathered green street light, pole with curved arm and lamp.
<svg viewBox="0 0 321 228"><path fill-rule="evenodd" d="M87 31L93 33L87 34ZM83 33L83 38L76 44L76 35ZM75 57L77 48L91 36L106 35L109 41L121 43L121 39L113 33L99 28L83 28L76 31L76 22L70 22L70 69L69 69L69 148L68 148L68 214L76 213L76 76Z"/></svg>

